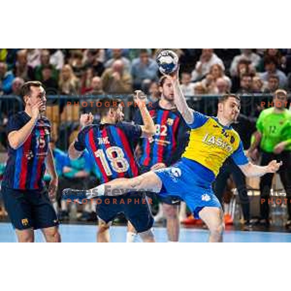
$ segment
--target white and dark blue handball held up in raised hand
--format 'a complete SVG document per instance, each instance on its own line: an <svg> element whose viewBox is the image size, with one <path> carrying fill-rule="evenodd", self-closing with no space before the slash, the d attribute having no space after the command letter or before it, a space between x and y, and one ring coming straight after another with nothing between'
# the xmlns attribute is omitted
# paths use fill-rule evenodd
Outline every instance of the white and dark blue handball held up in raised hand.
<svg viewBox="0 0 291 291"><path fill-rule="evenodd" d="M178 69L179 58L172 50L162 50L156 61L162 74L169 75Z"/></svg>

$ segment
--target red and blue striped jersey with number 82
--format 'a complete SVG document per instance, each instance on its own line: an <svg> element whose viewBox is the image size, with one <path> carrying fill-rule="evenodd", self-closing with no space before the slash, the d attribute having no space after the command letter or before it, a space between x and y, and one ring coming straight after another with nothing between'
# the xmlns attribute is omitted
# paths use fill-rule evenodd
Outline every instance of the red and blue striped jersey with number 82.
<svg viewBox="0 0 291 291"><path fill-rule="evenodd" d="M139 164L144 169L161 162L169 166L177 162L184 152L190 129L177 109L163 109L159 102L147 108L156 125L156 134L141 140ZM133 121L143 124L139 112L136 112Z"/></svg>

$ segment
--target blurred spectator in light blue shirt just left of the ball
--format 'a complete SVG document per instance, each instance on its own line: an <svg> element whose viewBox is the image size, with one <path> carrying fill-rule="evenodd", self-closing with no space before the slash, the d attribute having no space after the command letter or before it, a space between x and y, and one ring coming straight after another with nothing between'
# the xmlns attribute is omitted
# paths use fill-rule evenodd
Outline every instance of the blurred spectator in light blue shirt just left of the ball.
<svg viewBox="0 0 291 291"><path fill-rule="evenodd" d="M140 49L139 58L132 61L133 89L144 90L144 82L158 81L158 70L157 63L150 58L147 49Z"/></svg>

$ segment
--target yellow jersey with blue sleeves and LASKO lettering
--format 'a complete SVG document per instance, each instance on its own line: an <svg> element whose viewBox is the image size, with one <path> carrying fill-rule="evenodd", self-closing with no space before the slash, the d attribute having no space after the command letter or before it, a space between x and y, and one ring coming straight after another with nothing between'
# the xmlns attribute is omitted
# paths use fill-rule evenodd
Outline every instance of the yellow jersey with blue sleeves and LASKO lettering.
<svg viewBox="0 0 291 291"><path fill-rule="evenodd" d="M215 176L228 157L238 165L248 163L238 133L231 126L223 126L215 117L194 112L190 141L184 158L198 162Z"/></svg>

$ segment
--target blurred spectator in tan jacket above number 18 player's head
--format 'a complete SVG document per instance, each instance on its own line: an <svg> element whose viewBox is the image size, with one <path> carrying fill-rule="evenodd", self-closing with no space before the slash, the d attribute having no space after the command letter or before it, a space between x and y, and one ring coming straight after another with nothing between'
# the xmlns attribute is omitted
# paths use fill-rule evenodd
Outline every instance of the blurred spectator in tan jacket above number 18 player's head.
<svg viewBox="0 0 291 291"><path fill-rule="evenodd" d="M114 61L112 68L108 68L102 75L105 93L131 93L132 79L125 71L122 60Z"/></svg>

